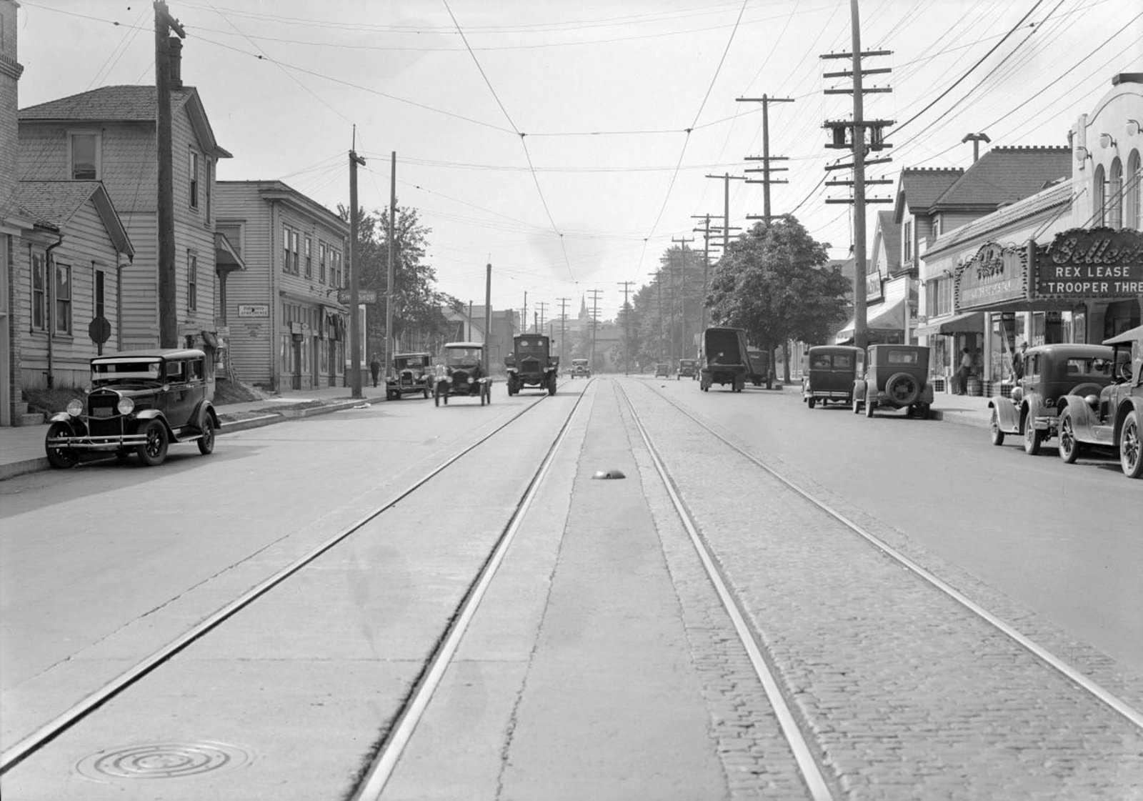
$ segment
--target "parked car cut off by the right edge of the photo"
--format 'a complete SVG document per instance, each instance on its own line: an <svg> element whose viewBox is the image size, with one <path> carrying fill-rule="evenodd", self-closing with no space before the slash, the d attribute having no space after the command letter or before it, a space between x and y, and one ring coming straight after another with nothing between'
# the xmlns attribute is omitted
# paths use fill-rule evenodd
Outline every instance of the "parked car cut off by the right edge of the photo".
<svg viewBox="0 0 1143 801"><path fill-rule="evenodd" d="M1098 395L1064 395L1060 411L1060 458L1071 464L1084 450L1118 454L1124 475L1143 475L1143 326L1103 341L1111 345L1113 384Z"/></svg>

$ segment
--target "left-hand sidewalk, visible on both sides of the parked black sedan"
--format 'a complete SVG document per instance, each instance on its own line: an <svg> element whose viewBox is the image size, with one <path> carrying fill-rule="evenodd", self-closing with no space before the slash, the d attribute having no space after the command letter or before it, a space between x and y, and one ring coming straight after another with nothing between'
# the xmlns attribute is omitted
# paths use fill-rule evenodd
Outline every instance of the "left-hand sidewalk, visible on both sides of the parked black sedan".
<svg viewBox="0 0 1143 801"><path fill-rule="evenodd" d="M352 390L347 386L329 386L287 391L267 400L216 406L215 411L222 423L218 434L351 409L359 403L383 402L385 387L362 386L360 400L354 400L351 394ZM0 428L0 481L50 467L48 457L43 454L43 436L47 431L47 425Z"/></svg>

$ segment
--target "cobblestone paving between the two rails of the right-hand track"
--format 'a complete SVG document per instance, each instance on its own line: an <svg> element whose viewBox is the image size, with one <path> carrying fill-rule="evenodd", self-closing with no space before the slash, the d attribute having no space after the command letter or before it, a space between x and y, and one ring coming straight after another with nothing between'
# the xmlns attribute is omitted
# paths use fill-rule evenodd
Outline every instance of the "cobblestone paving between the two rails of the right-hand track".
<svg viewBox="0 0 1143 801"><path fill-rule="evenodd" d="M1143 732L1129 721L636 391L647 393L653 441L847 798L1143 799Z"/></svg>

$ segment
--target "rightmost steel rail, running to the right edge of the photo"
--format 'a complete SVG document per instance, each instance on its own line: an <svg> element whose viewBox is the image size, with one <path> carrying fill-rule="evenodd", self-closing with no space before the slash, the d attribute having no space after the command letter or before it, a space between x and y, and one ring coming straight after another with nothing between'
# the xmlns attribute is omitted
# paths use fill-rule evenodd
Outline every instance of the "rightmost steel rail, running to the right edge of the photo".
<svg viewBox="0 0 1143 801"><path fill-rule="evenodd" d="M800 495L801 497L804 497L806 500L808 500L813 505L817 506L820 510L822 510L823 512L825 512L826 514L829 514L831 518L833 518L834 520L837 520L838 522L840 522L842 526L845 526L846 528L848 528L850 531L853 531L854 534L856 534L860 537L864 538L866 542L869 542L871 545L873 545L879 551L881 551L882 553L885 553L887 556L889 556L890 559L893 559L894 561L896 561L901 566L903 566L903 567L908 568L909 570L911 570L914 575L917 575L919 578L921 578L925 582L927 582L928 584L930 584L934 588L941 591L942 593L944 593L945 595L948 595L949 598L951 598L953 601L956 601L957 603L959 603L960 606L962 606L965 609L967 609L968 611L973 612L974 615L976 615L977 617L980 617L982 620L984 620L985 623L988 623L989 625L991 625L993 628L998 630L999 632L1001 632L1002 634L1005 634L1006 636L1008 636L1010 640L1013 640L1014 642L1016 642L1018 646L1021 646L1022 648L1024 648L1025 650L1028 650L1029 652L1031 652L1033 656L1036 656L1037 658L1039 658L1046 665L1048 665L1049 667L1052 667L1055 671L1057 671L1058 673L1061 673L1065 679L1068 679L1069 681L1074 682L1076 684L1078 684L1079 687L1081 687L1084 690L1086 690L1087 692L1089 692L1092 696L1094 696L1095 698L1097 698L1098 700L1101 700L1109 708L1111 708L1116 713L1118 713L1118 714L1122 715L1124 718L1126 718L1127 721L1130 722L1133 726L1135 726L1136 728L1143 730L1143 712L1136 710L1130 704L1128 704L1127 702L1125 702L1122 698L1120 698L1119 696L1114 695L1110 690L1101 687L1098 683L1096 683L1095 681L1093 681L1088 676L1084 675L1080 671L1078 671L1074 667L1072 667L1071 665L1069 665L1066 662L1064 662L1063 659L1061 659L1060 657L1057 657L1055 654L1053 654L1052 651L1049 651L1047 648L1045 648L1044 646L1039 644L1038 642L1036 642L1034 640L1032 640L1026 634L1022 634L1020 631L1017 631L1015 627L1013 627L1012 625L1009 625L1008 623L1006 623L1005 620L1002 620L1000 617L998 617L997 615L993 615L988 609L985 609L984 607L982 607L981 604L976 603L975 601L973 601L972 599L969 599L967 595L965 595L964 593L961 593L959 590L957 590L956 587L953 587L950 584L948 584L943 579L938 578L935 574L933 574L928 569L921 567L920 564L918 564L912 559L910 559L909 556L906 556L905 554L903 554L901 551L896 550L895 547L893 547L892 545L889 545L888 543L886 543L884 539L881 539L877 535L874 535L874 534L870 532L869 530L866 530L860 523L854 522L853 520L850 520L849 518L847 518L846 515L844 515L841 512L837 511L836 508L833 508L832 506L830 506L829 504L826 504L824 500L821 500L817 497L815 497L812 492L809 492L808 490L804 489L801 486L799 486L794 481L792 481L792 480L788 479L786 476L782 475L778 471L776 471L774 467L770 467L768 464L766 464L765 462L762 462L761 459L759 459L753 454L750 454L745 449L743 449L740 446L735 444L727 436L724 436L721 433L719 433L713 427L711 427L710 425L708 425L703 420L701 420L697 417L695 417L694 415L692 415L689 411L687 411L686 409L684 409L681 406L679 406L678 403L676 403L673 400L671 400L670 398L668 398L663 393L656 391L654 387L652 387L652 392L654 392L656 397L658 397L662 400L666 401L670 406L674 407L674 409L680 415L682 415L684 417L689 418L695 424L697 424L698 426L701 426L702 428L704 428L709 433L713 434L718 440L720 440L722 443L725 443L728 448L737 451L741 456L743 456L748 460L752 462L757 466L761 467L764 471L766 471L767 473L769 473L770 475L773 475L775 479L777 479L778 481L781 481L783 484L785 484L788 488L792 489L794 492L797 492L798 495Z"/></svg>

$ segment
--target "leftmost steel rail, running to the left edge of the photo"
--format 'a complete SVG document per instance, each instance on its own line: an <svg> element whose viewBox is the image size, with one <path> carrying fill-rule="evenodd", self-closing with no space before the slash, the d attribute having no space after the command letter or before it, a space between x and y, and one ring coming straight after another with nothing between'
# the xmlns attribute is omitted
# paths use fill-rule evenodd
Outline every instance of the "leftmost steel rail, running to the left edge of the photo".
<svg viewBox="0 0 1143 801"><path fill-rule="evenodd" d="M411 484L409 484L406 489L403 489L400 492L398 492L391 499L384 502L383 504L378 505L374 510L365 513L357 521L354 521L354 522L350 523L349 526L344 527L341 531L338 531L337 534L333 535L331 537L329 537L328 539L326 539L321 544L317 545L314 548L312 548L311 551L309 551L304 555L302 555L298 559L294 560L293 562L290 562L286 567L283 567L280 570L278 570L277 572L272 574L269 578L262 580L259 584L256 584L254 587L251 587L250 590L248 590L243 594L239 595L237 599L234 599L230 603L227 603L224 607L219 608L217 611L215 611L213 615L210 615L210 617L203 619L198 625L189 628L187 631L185 631L183 634L181 634L175 640L171 640L169 643L167 643L162 648L153 651L150 656L147 656L144 659L142 659L141 662L136 663L135 666L133 666L133 667L123 671L118 676L115 676L114 679L112 679L111 681L109 681L106 684L104 684L103 687L101 687L98 690L96 690L95 692L91 692L90 695L88 695L87 697L85 697L83 699L81 699L80 702L78 702L77 704L74 704L71 708L69 708L65 712L61 713L59 715L57 715L56 718L54 718L49 722L45 723L43 726L41 726L39 729L37 729L35 731L33 731L32 734L30 734L26 737L22 738L15 745L13 745L8 750L6 750L2 754L0 754L0 775L7 772L9 769L11 769L16 764L18 764L25 758L27 758L29 755L31 755L32 753L34 753L39 748L41 748L45 745L47 745L55 737L57 737L62 732L66 731L69 728L71 728L72 726L74 726L77 722L79 722L80 720L82 720L85 716L87 716L88 714L90 714L91 712L94 712L97 707L99 707L101 705L103 705L104 703L106 703L107 700L110 700L111 698L113 698L117 695L119 695L120 692L122 692L125 689L127 689L128 687L130 687L131 684L134 684L135 682L137 682L143 676L147 675L149 673L151 673L158 666L160 666L161 664L163 664L165 662L167 662L168 659L170 659L173 656L175 656L176 654L178 654L179 651L182 651L183 649L185 649L187 646L190 646L195 640L202 638L205 634L207 634L208 632L210 632L213 628L217 627L219 624L222 624L223 622L225 622L227 618L232 617L239 610L243 609L245 607L249 606L250 603L253 603L255 600L257 600L262 595L266 594L274 586L277 586L278 584L280 584L285 579L289 578L291 575L294 575L295 572L297 572L298 570L301 570L302 568L304 568L306 564L309 564L310 562L312 562L313 560L315 560L321 554L323 554L327 551L329 551L331 547L334 547L335 545L337 545L338 543L341 543L343 539L345 539L346 537L349 537L350 535L352 535L354 531L357 531L358 529L360 529L362 526L365 526L366 523L368 523L369 521L374 520L375 518L377 518L382 513L384 513L387 510L390 510L393 506L395 506L398 503L400 503L401 500L403 500L405 498L407 498L409 495L411 495L413 492L415 492L417 489L419 489L422 486L424 486L425 483L427 483L431 479L435 478L441 472L443 472L446 468L448 468L451 464L454 464L455 462L457 462L458 459L461 459L462 457L464 457L469 452L471 452L471 451L475 450L477 448L479 448L481 444L483 444L485 442L487 442L488 440L490 440L493 436L495 436L496 434L498 434L501 431L503 431L507 426L512 425L512 423L514 423L521 416L526 415L528 411L530 411L531 409L534 409L541 401L543 401L545 398L549 398L549 397L550 395L546 395L546 394L538 397L536 403L529 403L527 407L525 407L523 409L521 409L519 412L512 415L512 417L510 417L503 424L496 426L493 431L488 432L487 434L485 434L483 436L481 436L480 439L478 439L472 444L466 446L462 450L459 450L456 454L454 454L453 456L448 457L441 464L439 464L435 467L433 467L432 470L430 470L425 475L423 475L421 479L417 479L416 481L414 481Z"/></svg>

